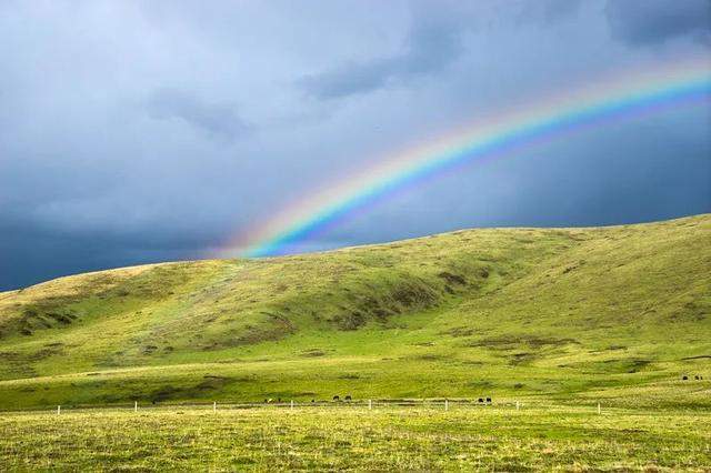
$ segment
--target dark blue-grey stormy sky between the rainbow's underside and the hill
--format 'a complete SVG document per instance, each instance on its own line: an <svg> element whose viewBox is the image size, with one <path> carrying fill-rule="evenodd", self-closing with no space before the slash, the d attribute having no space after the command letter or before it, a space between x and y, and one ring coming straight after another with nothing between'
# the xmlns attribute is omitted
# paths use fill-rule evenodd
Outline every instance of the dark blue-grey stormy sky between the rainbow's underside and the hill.
<svg viewBox="0 0 711 473"><path fill-rule="evenodd" d="M622 122L571 142L553 141L483 164L471 162L425 189L358 215L332 232L329 243L334 248L414 238L431 233L434 221L444 232L612 225L709 212L711 137L689 137L703 133L711 122L698 120L690 110L651 123ZM689 133L679 133L681 128Z"/></svg>

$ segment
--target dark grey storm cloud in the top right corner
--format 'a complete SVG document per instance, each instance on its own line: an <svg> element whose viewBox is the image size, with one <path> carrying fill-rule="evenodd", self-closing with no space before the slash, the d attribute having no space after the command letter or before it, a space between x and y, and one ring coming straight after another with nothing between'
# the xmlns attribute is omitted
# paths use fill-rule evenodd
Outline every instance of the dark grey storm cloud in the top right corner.
<svg viewBox="0 0 711 473"><path fill-rule="evenodd" d="M711 34L711 0L609 0L605 13L612 34L630 44Z"/></svg>

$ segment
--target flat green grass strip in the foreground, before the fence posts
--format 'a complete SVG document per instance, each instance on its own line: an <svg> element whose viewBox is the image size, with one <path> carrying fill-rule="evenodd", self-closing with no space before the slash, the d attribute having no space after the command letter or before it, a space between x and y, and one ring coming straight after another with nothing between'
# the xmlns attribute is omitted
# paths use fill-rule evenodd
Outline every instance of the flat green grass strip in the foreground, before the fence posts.
<svg viewBox="0 0 711 473"><path fill-rule="evenodd" d="M7 470L708 470L709 412L453 405L0 414Z"/></svg>

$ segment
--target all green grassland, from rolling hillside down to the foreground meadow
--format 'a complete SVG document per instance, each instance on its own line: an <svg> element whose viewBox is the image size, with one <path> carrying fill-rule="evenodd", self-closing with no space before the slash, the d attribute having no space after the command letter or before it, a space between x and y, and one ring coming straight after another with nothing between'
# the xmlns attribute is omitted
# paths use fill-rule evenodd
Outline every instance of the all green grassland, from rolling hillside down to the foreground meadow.
<svg viewBox="0 0 711 473"><path fill-rule="evenodd" d="M708 214L62 278L0 293L0 453L11 469L708 469L710 314ZM333 395L498 406L174 407ZM550 409L514 417L515 400ZM134 401L156 410L72 411Z"/></svg>

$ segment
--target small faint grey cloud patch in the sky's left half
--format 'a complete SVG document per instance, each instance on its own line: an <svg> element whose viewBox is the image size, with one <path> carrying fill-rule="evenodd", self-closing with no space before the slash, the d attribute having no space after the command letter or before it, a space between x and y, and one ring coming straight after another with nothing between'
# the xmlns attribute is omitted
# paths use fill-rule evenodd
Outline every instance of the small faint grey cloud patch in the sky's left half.
<svg viewBox="0 0 711 473"><path fill-rule="evenodd" d="M206 131L210 135L234 140L250 130L237 107L229 103L208 103L186 91L159 90L148 102L151 117L159 120L177 119Z"/></svg>

